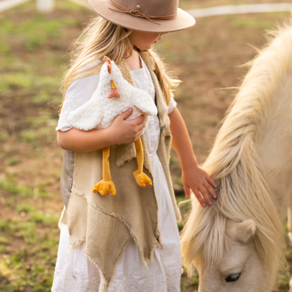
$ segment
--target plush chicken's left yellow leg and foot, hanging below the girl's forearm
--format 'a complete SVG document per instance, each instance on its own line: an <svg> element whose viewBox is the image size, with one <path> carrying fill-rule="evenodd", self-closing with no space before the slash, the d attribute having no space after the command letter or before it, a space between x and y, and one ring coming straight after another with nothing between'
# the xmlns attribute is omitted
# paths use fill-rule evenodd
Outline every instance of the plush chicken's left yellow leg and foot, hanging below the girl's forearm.
<svg viewBox="0 0 292 292"><path fill-rule="evenodd" d="M116 187L112 181L111 171L110 171L110 147L102 149L102 180L99 181L92 189L93 193L99 192L101 196L106 194L111 194L114 196L116 194Z"/></svg>

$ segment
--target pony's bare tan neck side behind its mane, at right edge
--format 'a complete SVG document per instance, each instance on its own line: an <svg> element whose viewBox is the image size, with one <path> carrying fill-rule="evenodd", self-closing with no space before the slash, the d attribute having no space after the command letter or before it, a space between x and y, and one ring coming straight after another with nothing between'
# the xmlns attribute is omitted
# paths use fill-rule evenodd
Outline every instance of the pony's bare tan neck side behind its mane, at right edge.
<svg viewBox="0 0 292 292"><path fill-rule="evenodd" d="M292 74L283 80L277 92L280 94L264 111L261 134L256 138L263 176L284 220L292 195Z"/></svg>

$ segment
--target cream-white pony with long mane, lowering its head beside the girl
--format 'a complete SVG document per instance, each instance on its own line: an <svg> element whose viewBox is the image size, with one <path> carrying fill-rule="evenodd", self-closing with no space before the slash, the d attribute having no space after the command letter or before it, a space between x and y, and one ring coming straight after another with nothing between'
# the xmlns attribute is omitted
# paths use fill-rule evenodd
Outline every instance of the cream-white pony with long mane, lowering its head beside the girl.
<svg viewBox="0 0 292 292"><path fill-rule="evenodd" d="M199 292L272 291L292 228L292 20L272 34L224 119L203 168L218 199L192 211L181 234ZM289 207L290 206L290 207Z"/></svg>

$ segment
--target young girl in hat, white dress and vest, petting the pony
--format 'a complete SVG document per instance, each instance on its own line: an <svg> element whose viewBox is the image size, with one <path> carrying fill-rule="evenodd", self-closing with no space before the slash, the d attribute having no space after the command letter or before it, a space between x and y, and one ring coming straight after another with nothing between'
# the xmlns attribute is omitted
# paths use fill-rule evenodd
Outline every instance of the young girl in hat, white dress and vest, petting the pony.
<svg viewBox="0 0 292 292"><path fill-rule="evenodd" d="M179 81L168 76L152 45L164 33L191 27L195 20L176 0L89 2L102 17L93 19L77 40L56 128L65 150L60 185L65 208L52 292L178 292L180 214L169 173L171 137L186 197L191 189L203 206L212 204L208 193L216 198L216 184L198 166L176 108L172 86ZM153 182L145 189L132 175L137 168L132 147L144 128L143 116L126 120L129 109L109 128L91 131L73 128L67 119L97 88L105 55L128 82L149 93L158 108L141 136L144 172ZM117 190L113 197L91 192L101 178L102 148L109 146Z"/></svg>

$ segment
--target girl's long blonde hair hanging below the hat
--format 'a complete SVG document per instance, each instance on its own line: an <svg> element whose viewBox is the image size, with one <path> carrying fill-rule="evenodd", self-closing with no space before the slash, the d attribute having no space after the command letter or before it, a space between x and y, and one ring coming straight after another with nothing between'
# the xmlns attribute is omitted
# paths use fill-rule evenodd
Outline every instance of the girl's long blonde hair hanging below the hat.
<svg viewBox="0 0 292 292"><path fill-rule="evenodd" d="M62 91L65 98L70 84L81 77L90 76L100 72L102 62L90 69L82 70L82 67L95 60L101 60L107 55L110 59L118 62L122 58L131 56L133 45L130 41L132 31L115 25L108 20L97 16L91 20L81 35L73 44L70 68L62 79ZM138 48L135 48L140 51ZM180 80L170 77L164 62L159 58L154 49L148 50L155 61L155 73L161 86L166 103L169 105L172 88L180 83ZM128 55L126 55L128 54ZM59 112L61 112L62 105Z"/></svg>

